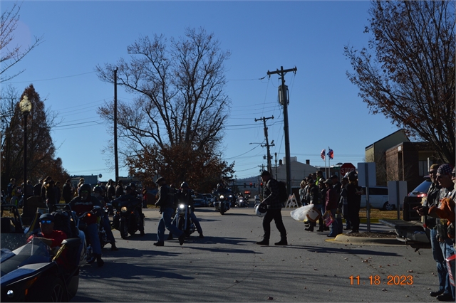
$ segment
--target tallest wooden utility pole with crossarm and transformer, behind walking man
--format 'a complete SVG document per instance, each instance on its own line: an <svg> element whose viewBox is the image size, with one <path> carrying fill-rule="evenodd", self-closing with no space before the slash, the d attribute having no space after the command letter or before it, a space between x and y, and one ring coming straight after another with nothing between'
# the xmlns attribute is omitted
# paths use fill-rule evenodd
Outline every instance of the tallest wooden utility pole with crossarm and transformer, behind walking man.
<svg viewBox="0 0 456 303"><path fill-rule="evenodd" d="M284 70L284 67L281 66L280 70L276 70L275 72L270 72L268 70L268 75L271 76L273 74L279 74L280 79L282 80L282 85L279 88L279 102L281 105L284 106L284 133L285 133L285 161L286 161L286 187L288 188L289 194L292 194L291 191L291 163L290 163L290 137L288 132L288 89L285 85L285 74L288 72L296 73L298 70L296 67L291 68L289 70Z"/></svg>

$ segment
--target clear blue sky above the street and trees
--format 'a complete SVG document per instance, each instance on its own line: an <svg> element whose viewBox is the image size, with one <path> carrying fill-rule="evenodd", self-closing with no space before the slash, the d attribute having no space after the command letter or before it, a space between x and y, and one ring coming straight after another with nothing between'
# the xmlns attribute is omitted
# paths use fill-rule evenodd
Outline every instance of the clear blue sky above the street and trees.
<svg viewBox="0 0 456 303"><path fill-rule="evenodd" d="M6 11L13 1L1 1ZM223 157L238 179L256 176L266 166L263 122L271 117L271 154L285 157L284 123L277 100L278 75L287 73L291 156L324 166L322 149L334 151L331 164L364 161L365 148L397 130L383 115L370 115L346 71L346 45L368 46L369 1L24 1L15 43L27 46L33 36L43 43L12 68L26 69L9 81L22 92L31 83L46 108L62 122L51 130L56 156L71 175L114 179L106 154L110 134L96 110L113 99L113 85L95 74L97 64L128 58L127 46L140 36L184 35L203 27L232 52L225 63L226 91L232 110L226 123ZM264 78L266 76L266 78ZM260 80L261 79L261 80ZM4 83L3 85L6 85ZM132 95L118 88L118 99ZM250 144L254 143L254 144ZM273 161L274 164L274 161ZM120 165L120 176L128 171Z"/></svg>

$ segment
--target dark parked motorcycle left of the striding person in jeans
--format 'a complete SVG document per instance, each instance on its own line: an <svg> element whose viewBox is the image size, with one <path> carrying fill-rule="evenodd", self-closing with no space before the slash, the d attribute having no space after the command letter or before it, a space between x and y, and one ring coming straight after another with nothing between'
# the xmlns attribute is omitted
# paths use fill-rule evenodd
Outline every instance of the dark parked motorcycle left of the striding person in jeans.
<svg viewBox="0 0 456 303"><path fill-rule="evenodd" d="M134 235L140 226L144 226L145 216L142 213L142 201L138 198L123 200L117 198L113 200L115 215L113 218L113 228L120 231L120 237L128 238L128 234Z"/></svg>

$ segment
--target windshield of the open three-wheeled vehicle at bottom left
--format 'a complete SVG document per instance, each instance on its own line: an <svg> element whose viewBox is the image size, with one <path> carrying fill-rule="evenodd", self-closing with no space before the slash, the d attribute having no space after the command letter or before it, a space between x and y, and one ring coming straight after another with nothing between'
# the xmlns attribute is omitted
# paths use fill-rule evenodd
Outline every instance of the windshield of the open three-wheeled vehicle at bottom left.
<svg viewBox="0 0 456 303"><path fill-rule="evenodd" d="M49 250L48 245L37 238L12 252L1 249L1 276L27 264L51 262Z"/></svg>

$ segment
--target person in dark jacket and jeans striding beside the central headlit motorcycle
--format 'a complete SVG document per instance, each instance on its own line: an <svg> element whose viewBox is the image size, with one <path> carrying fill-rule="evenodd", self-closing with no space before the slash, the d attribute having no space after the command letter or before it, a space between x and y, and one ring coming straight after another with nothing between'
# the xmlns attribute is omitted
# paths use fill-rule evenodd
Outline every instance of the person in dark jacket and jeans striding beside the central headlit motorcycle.
<svg viewBox="0 0 456 303"><path fill-rule="evenodd" d="M160 207L160 213L162 218L158 223L157 228L157 242L153 243L155 246L165 245L165 228L170 231L172 235L177 235L179 237L179 244L182 245L185 242L185 233L172 224L172 213L174 213L174 203L175 203L175 191L167 186L166 180L163 177L160 177L155 181L158 186L158 199L155 202L155 206Z"/></svg>

